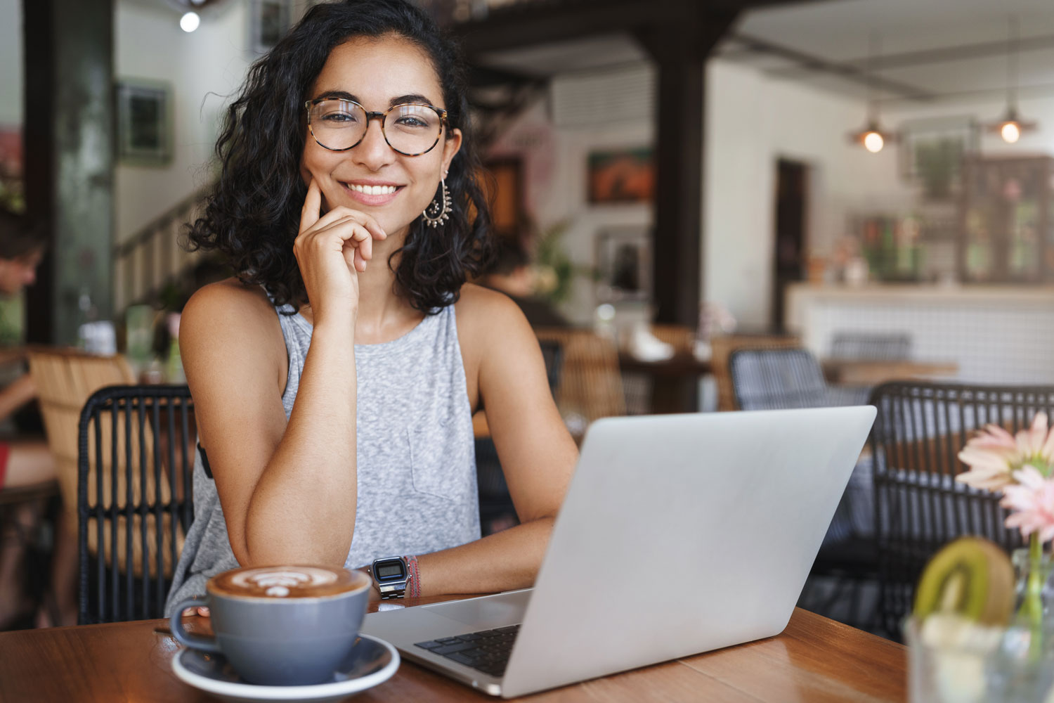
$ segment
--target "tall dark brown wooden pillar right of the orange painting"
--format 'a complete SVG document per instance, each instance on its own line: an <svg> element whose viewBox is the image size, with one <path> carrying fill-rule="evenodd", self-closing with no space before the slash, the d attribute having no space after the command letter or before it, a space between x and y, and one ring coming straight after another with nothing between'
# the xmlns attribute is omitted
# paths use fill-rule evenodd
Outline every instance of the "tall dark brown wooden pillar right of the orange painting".
<svg viewBox="0 0 1054 703"><path fill-rule="evenodd" d="M703 12L638 34L658 64L652 281L656 321L695 328L703 285L706 57L735 14Z"/></svg>

